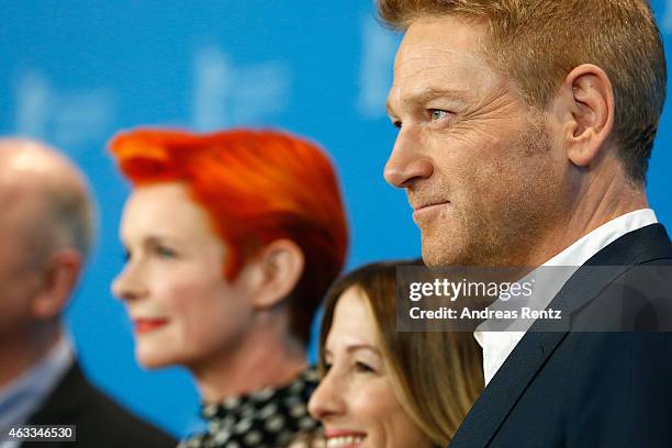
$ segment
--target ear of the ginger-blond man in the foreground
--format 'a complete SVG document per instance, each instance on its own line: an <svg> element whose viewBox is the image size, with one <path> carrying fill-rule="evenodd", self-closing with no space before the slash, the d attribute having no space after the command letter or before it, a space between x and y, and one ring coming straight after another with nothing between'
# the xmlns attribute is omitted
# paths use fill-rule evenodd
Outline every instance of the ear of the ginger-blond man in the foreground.
<svg viewBox="0 0 672 448"><path fill-rule="evenodd" d="M601 155L614 128L614 91L604 70L582 64L567 75L557 96L567 156L589 167Z"/></svg>

